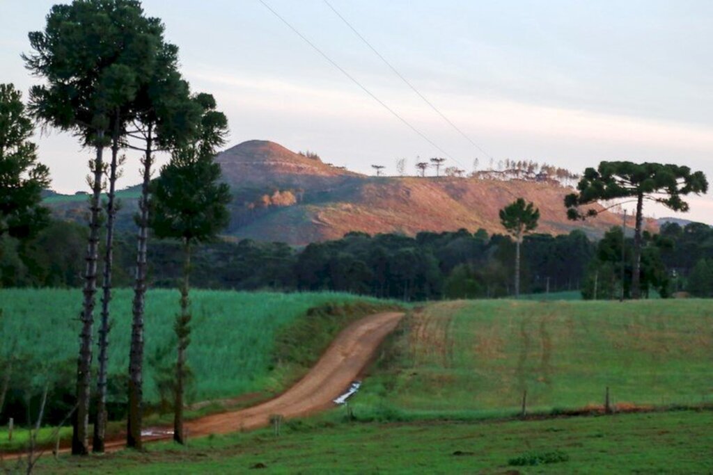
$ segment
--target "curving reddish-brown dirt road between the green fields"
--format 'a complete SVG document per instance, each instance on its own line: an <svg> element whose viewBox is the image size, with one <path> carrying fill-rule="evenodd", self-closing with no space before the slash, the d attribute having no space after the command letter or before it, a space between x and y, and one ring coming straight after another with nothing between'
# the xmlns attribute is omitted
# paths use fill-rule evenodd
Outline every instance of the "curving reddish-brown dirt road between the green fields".
<svg viewBox="0 0 713 475"><path fill-rule="evenodd" d="M349 385L359 377L386 335L396 328L403 316L403 313L388 312L357 320L342 330L319 358L317 365L282 395L247 409L212 414L185 422L189 437L256 429L270 424L272 414L291 419L334 407L332 401L349 389ZM144 437L144 442L173 437L168 427L146 429L156 435ZM124 447L125 441L122 438L107 441L105 448L106 451L117 451ZM60 452L68 453L68 449L61 449ZM6 456L6 460L13 458Z"/></svg>

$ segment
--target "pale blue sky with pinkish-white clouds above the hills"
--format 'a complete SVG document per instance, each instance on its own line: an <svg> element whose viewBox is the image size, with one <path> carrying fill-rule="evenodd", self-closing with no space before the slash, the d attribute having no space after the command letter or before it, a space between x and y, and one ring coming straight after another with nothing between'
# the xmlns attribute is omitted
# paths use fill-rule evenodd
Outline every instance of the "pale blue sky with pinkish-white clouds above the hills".
<svg viewBox="0 0 713 475"><path fill-rule="evenodd" d="M56 3L0 0L0 82L24 91L39 82L20 54ZM265 3L430 142L260 0L144 0L179 46L191 88L215 95L226 113L229 146L272 140L364 173L384 165L395 174L405 157L415 174L416 157L447 154L446 165L468 171L489 157L575 172L631 160L687 165L713 181L712 1L329 0L477 147L324 0ZM54 189L86 188L90 152L57 131L36 141ZM120 187L139 181L138 157L127 155ZM711 194L689 203L681 217L713 224Z"/></svg>

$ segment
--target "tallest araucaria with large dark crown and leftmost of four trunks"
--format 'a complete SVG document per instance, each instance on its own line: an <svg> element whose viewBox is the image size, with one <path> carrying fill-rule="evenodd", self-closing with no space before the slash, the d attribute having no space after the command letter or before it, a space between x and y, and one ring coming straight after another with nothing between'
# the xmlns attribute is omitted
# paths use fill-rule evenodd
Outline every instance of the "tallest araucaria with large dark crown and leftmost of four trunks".
<svg viewBox="0 0 713 475"><path fill-rule="evenodd" d="M132 115L133 101L148 80L161 43L163 25L143 16L136 0L75 0L53 6L44 31L29 34L33 53L26 65L45 84L31 89L31 108L46 125L77 135L82 145L95 150L90 162L92 189L90 235L81 312L82 329L77 365L77 409L72 453L88 452L88 414L91 386L92 338L97 283L100 198L106 163L104 148L112 146L110 181L116 179L120 141ZM108 320L113 239L113 189L108 203L108 236L103 301ZM107 325L102 325L101 347L106 355ZM103 361L106 368L106 360ZM102 383L100 382L100 385ZM104 379L106 385L106 378ZM101 391L100 391L101 392ZM99 414L103 427L103 411ZM101 435L101 434L100 434ZM101 449L101 444L99 447Z"/></svg>

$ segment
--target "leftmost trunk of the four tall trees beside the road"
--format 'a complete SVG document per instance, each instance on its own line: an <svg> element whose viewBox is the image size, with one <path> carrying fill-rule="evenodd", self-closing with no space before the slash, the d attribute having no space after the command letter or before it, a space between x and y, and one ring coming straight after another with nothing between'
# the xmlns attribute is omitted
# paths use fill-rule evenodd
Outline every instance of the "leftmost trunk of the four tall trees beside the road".
<svg viewBox="0 0 713 475"><path fill-rule="evenodd" d="M89 453L89 400L91 395L92 333L96 294L96 261L99 250L99 217L101 212L101 176L103 173L104 132L98 132L96 158L93 161L94 182L89 215L89 240L84 273L84 302L81 313L82 329L79 333L79 357L77 360L77 410L73 420L72 454Z"/></svg>

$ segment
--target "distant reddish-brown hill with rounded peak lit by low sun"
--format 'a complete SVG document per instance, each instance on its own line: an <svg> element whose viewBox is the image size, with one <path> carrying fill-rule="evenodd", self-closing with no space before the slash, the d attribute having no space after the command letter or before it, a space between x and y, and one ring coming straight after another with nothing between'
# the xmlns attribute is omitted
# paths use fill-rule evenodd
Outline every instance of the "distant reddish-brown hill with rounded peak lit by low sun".
<svg viewBox="0 0 713 475"><path fill-rule="evenodd" d="M538 232L582 229L601 236L620 221L609 212L569 221L563 199L571 190L552 181L367 177L262 140L225 150L216 161L234 195L227 234L238 239L308 244L339 239L349 231L414 235L482 228L501 233L498 211L518 197L540 209ZM135 187L123 192L118 226L133 226L137 192ZM53 195L46 202L66 219L86 215L86 195Z"/></svg>

